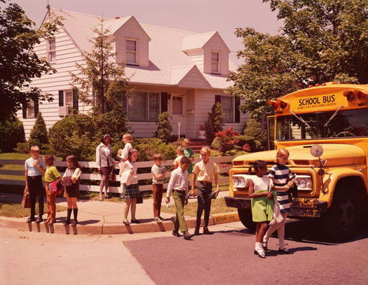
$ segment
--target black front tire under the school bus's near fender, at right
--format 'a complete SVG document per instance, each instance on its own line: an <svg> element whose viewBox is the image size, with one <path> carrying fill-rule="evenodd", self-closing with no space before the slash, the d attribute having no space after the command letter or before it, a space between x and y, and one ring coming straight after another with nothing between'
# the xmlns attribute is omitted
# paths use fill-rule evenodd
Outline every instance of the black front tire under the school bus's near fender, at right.
<svg viewBox="0 0 368 285"><path fill-rule="evenodd" d="M354 237L361 217L359 205L356 191L345 187L336 189L332 205L322 220L325 234L336 241Z"/></svg>

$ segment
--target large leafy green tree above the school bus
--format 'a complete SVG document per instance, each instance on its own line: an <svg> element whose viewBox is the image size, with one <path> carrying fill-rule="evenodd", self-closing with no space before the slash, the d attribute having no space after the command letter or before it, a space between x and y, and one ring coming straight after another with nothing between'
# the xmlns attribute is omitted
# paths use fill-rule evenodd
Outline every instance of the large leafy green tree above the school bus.
<svg viewBox="0 0 368 285"><path fill-rule="evenodd" d="M259 120L266 100L308 85L338 81L368 83L366 0L263 0L282 20L281 34L236 29L245 62L229 74L226 90L246 98L240 109Z"/></svg>

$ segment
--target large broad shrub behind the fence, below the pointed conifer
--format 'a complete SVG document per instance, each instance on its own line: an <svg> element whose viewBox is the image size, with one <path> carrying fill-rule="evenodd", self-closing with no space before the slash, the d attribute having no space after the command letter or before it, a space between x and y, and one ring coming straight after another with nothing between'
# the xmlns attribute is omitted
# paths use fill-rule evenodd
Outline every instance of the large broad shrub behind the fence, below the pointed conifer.
<svg viewBox="0 0 368 285"><path fill-rule="evenodd" d="M119 108L100 115L68 116L50 128L49 149L62 158L74 154L79 160L95 160L96 147L103 134L111 135L113 146L114 141L122 144L121 136L128 132L126 123L126 116Z"/></svg>

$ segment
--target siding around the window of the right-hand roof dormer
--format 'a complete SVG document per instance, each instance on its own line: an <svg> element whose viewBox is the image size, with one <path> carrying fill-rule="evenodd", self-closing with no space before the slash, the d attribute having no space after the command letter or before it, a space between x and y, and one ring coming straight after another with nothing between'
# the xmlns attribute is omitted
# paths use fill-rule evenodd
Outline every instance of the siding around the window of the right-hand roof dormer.
<svg viewBox="0 0 368 285"><path fill-rule="evenodd" d="M229 50L226 48L219 34L214 34L210 41L203 47L204 50L204 65L203 69L206 74L211 73L211 52L219 52L219 69L221 75L227 76L229 73Z"/></svg>

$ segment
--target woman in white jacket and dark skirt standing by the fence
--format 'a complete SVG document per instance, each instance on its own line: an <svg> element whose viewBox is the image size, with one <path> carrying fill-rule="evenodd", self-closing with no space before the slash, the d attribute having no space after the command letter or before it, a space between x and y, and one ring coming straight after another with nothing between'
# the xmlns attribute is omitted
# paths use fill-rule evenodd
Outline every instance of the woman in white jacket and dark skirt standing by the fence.
<svg viewBox="0 0 368 285"><path fill-rule="evenodd" d="M102 190L104 191L104 198L107 198L107 193L109 191L109 176L114 168L115 160L112 158L111 153L111 137L109 134L105 134L102 137L101 144L99 144L96 148L96 164L98 172L101 174L101 183L100 183L100 198L102 201Z"/></svg>

